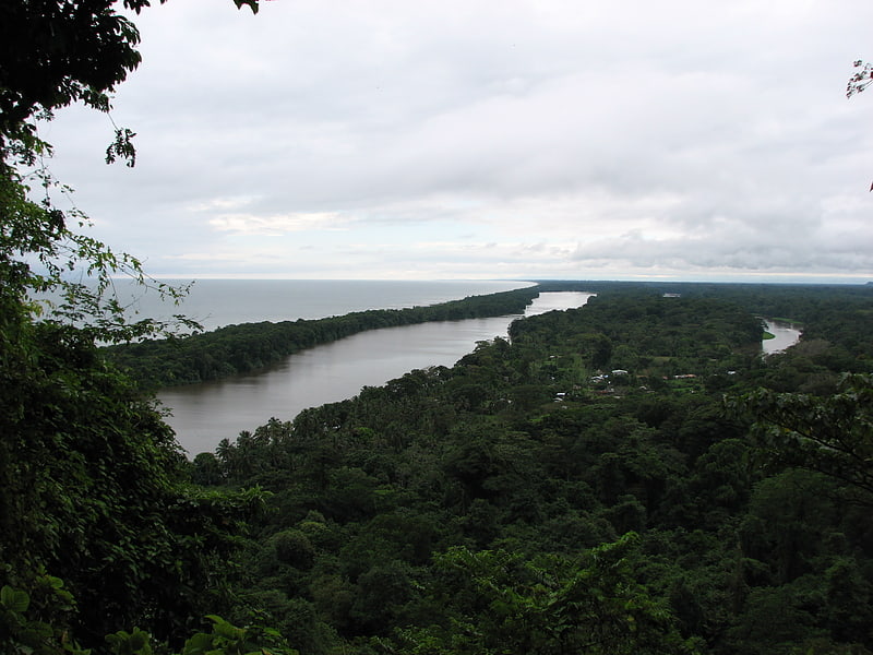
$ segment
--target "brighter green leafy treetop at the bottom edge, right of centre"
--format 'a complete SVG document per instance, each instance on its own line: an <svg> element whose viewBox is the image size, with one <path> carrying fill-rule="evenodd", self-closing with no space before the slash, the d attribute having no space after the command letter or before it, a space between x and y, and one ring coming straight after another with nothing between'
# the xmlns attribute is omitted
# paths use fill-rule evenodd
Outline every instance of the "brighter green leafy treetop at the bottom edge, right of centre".
<svg viewBox="0 0 873 655"><path fill-rule="evenodd" d="M689 653L665 605L633 576L629 534L579 561L453 548L436 558L451 631L399 631L427 653ZM419 651L414 651L419 652Z"/></svg>

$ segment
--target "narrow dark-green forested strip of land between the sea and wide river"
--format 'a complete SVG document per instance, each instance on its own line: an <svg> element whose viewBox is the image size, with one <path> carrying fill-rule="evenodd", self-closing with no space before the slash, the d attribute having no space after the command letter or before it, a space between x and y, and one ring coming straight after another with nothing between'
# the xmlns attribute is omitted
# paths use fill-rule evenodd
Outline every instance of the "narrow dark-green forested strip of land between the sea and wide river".
<svg viewBox="0 0 873 655"><path fill-rule="evenodd" d="M529 286L427 307L372 309L316 320L242 323L183 338L109 346L105 354L150 388L192 384L256 371L299 350L367 330L521 314L538 294L536 286Z"/></svg>

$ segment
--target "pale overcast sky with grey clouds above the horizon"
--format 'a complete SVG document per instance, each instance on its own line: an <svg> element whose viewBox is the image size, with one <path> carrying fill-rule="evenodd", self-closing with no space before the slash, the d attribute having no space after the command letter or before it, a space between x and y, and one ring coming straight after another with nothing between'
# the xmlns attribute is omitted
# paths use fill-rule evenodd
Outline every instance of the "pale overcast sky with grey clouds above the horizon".
<svg viewBox="0 0 873 655"><path fill-rule="evenodd" d="M156 3L157 4L157 3ZM869 0L169 0L40 135L158 277L873 279ZM65 199L58 199L63 206Z"/></svg>

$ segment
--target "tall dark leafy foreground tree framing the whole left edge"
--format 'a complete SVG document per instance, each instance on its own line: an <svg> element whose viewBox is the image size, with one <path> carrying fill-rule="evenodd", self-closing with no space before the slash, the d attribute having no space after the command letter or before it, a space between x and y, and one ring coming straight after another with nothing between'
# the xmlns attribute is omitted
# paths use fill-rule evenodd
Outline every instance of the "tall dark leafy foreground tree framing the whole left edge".
<svg viewBox="0 0 873 655"><path fill-rule="evenodd" d="M135 12L148 4L123 2ZM130 323L113 275L171 298L183 290L74 231L70 224L87 217L53 205L59 183L41 164L51 146L36 122L72 103L108 111L109 94L140 61L137 41L111 0L0 7L0 584L27 594L43 571L64 577L79 602L69 621L92 643L133 621L178 635L219 586L239 516L263 500L190 490L153 402L98 354L97 341L167 327ZM117 130L107 160L132 165L132 135ZM86 282L71 282L73 272ZM60 300L38 305L34 296L47 291ZM67 605L41 616L67 621Z"/></svg>

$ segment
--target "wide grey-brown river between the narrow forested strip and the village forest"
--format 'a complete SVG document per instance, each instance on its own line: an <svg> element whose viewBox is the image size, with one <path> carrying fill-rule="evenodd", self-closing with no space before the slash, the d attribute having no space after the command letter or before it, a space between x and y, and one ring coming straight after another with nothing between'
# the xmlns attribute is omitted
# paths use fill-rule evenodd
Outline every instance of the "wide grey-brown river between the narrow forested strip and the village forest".
<svg viewBox="0 0 873 655"><path fill-rule="evenodd" d="M543 293L525 315L582 307L593 294ZM414 369L453 366L479 341L506 336L519 315L441 321L361 332L302 350L256 374L162 390L167 422L189 454L214 451L222 439L254 430L271 417L355 396Z"/></svg>

